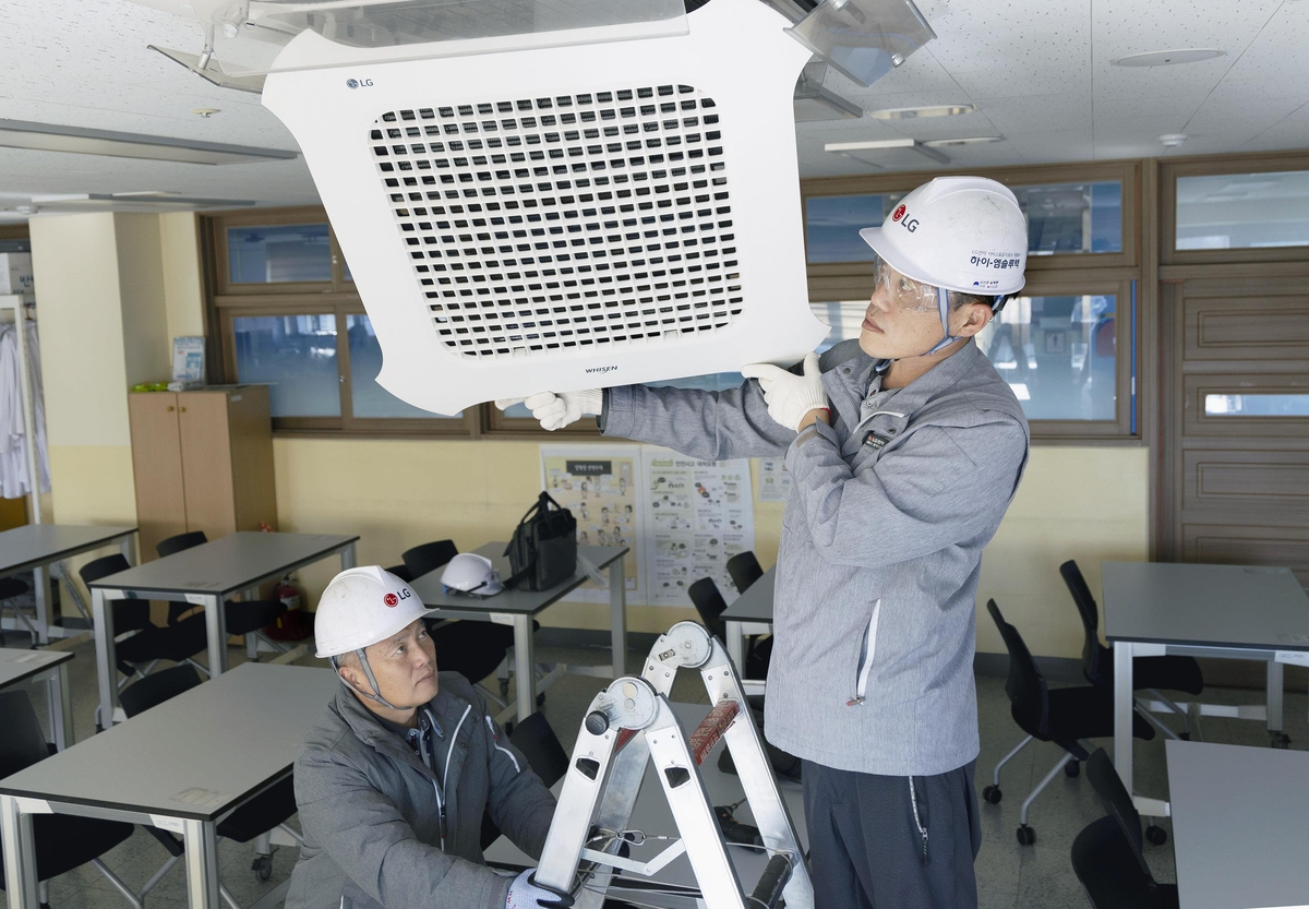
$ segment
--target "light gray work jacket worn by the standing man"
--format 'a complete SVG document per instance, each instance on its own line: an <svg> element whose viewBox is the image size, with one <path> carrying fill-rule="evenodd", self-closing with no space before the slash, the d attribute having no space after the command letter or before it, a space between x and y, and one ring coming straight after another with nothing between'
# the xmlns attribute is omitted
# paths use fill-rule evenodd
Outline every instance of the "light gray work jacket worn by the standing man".
<svg viewBox="0 0 1309 909"><path fill-rule="evenodd" d="M876 362L859 342L819 365L833 424L798 436L768 417L755 380L613 388L602 428L706 461L785 452L768 740L842 770L946 773L978 754L974 600L1028 422L973 342L867 419Z"/></svg>

